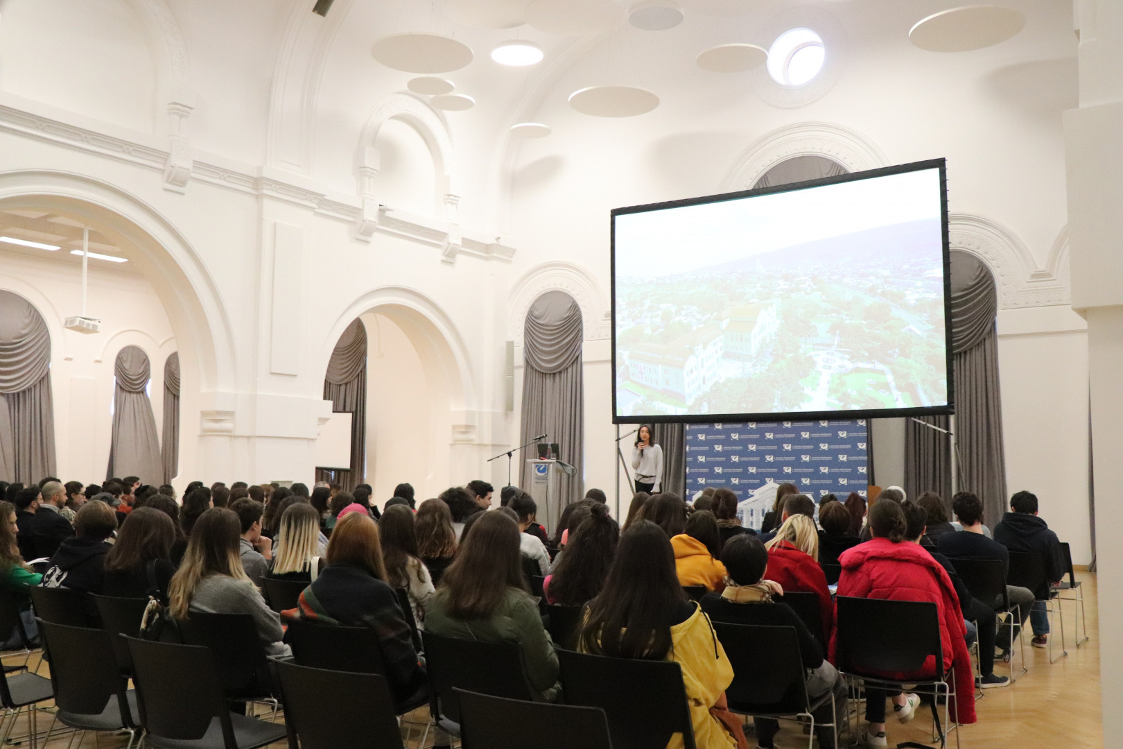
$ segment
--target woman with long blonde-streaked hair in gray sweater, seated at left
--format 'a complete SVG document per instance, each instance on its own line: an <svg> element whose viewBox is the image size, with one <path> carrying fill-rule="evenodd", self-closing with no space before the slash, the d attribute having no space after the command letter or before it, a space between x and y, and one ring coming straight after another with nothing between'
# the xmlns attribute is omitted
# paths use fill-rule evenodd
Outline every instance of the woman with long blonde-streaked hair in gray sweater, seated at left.
<svg viewBox="0 0 1123 749"><path fill-rule="evenodd" d="M281 641L284 637L281 616L265 604L261 591L241 567L240 540L241 521L237 513L226 508L204 512L191 533L183 564L168 585L168 610L180 620L190 618L192 611L249 614L265 652L289 656L289 646Z"/></svg>

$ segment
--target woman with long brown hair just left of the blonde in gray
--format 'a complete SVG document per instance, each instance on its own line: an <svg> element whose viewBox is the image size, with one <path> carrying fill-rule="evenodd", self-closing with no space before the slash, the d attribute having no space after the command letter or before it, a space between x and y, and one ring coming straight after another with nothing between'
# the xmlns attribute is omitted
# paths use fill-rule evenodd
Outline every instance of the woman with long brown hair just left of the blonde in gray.
<svg viewBox="0 0 1123 749"><path fill-rule="evenodd" d="M136 508L129 513L117 540L106 555L103 595L119 599L167 601L167 586L175 574L172 519L153 506Z"/></svg>

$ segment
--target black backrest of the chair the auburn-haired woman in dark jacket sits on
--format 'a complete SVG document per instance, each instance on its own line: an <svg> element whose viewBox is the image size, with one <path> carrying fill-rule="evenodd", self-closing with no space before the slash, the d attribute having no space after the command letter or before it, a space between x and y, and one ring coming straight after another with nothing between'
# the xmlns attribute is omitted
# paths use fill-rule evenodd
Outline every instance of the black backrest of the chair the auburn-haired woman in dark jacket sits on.
<svg viewBox="0 0 1123 749"><path fill-rule="evenodd" d="M299 619L289 622L284 640L301 666L386 675L378 634L369 627L338 627Z"/></svg>

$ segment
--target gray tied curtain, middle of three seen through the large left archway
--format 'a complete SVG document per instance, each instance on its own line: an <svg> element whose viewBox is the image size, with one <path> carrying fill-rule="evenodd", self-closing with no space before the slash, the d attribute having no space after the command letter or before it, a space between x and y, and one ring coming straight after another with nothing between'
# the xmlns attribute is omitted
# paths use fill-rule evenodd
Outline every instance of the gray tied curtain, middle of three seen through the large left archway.
<svg viewBox="0 0 1123 749"><path fill-rule="evenodd" d="M148 355L126 346L117 354L113 375L113 441L106 477L139 476L140 483L155 484L164 477L164 462L146 390L152 376Z"/></svg>

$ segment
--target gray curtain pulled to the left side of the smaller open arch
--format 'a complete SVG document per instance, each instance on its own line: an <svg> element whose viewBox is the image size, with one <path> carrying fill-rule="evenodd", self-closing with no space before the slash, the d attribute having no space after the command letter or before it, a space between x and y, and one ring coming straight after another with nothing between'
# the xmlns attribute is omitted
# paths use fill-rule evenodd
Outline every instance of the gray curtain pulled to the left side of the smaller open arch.
<svg viewBox="0 0 1123 749"><path fill-rule="evenodd" d="M358 318L331 351L323 400L331 401L336 413L351 414L350 471L338 477L339 485L350 491L366 481L366 326Z"/></svg>

